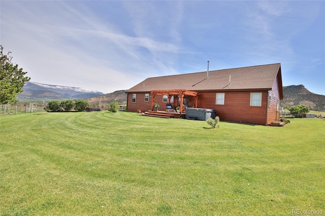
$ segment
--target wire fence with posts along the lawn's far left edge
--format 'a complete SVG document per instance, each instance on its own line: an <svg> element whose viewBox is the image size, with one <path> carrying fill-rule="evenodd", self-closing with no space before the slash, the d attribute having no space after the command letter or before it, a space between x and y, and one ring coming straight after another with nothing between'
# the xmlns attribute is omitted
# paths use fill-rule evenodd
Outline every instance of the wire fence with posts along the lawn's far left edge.
<svg viewBox="0 0 325 216"><path fill-rule="evenodd" d="M12 115L20 113L34 113L44 111L46 104L42 103L24 103L24 104L5 104L0 105L1 115Z"/></svg>

